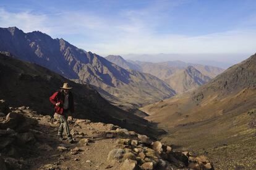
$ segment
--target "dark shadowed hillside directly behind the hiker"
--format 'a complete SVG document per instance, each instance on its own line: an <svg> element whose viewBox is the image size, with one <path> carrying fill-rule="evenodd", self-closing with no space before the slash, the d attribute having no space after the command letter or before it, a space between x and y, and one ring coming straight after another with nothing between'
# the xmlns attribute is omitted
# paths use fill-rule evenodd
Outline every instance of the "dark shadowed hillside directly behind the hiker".
<svg viewBox="0 0 256 170"><path fill-rule="evenodd" d="M49 96L67 82L73 87L75 117L113 123L151 137L163 133L145 119L109 104L91 85L74 83L36 64L0 54L0 73L0 98L11 106L26 105L38 113L52 114Z"/></svg>

